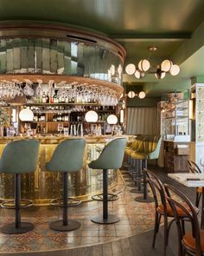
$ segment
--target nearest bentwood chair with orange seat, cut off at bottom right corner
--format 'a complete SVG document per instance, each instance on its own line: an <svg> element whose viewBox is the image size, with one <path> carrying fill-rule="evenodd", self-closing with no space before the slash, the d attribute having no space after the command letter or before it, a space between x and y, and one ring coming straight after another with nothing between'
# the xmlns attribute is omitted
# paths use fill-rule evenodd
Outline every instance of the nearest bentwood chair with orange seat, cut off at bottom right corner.
<svg viewBox="0 0 204 256"><path fill-rule="evenodd" d="M168 195L167 200L169 201L169 205L175 214L180 241L179 256L186 254L194 256L204 255L204 230L200 229L196 208L188 197L182 194L182 192L175 187L166 184L164 187ZM179 201L182 200L184 203L178 202L177 199L173 199L172 195L176 195L176 198L179 199ZM191 223L191 231L188 233L182 233L181 221L177 210L178 208L186 214L186 219Z"/></svg>

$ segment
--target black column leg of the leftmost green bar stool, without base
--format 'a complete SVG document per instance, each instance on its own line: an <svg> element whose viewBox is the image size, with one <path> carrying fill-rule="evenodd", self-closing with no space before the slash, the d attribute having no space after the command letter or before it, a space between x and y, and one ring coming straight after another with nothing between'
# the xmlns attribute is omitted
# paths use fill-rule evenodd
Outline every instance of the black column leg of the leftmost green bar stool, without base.
<svg viewBox="0 0 204 256"><path fill-rule="evenodd" d="M16 228L21 227L21 174L15 174Z"/></svg>

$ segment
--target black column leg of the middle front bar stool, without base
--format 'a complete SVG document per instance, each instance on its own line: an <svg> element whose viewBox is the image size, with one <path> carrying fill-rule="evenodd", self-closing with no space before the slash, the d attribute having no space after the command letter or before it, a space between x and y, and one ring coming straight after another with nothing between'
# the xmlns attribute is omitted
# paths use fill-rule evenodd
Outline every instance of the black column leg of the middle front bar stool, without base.
<svg viewBox="0 0 204 256"><path fill-rule="evenodd" d="M67 200L68 200L68 174L67 172L63 173L63 206L62 206L62 222L63 226L68 225L68 206L67 206Z"/></svg>

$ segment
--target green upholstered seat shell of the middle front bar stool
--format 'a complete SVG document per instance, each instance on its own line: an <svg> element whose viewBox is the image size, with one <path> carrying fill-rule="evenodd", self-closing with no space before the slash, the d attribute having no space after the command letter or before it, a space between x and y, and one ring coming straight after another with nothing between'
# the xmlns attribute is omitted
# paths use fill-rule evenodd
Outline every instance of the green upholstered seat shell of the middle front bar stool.
<svg viewBox="0 0 204 256"><path fill-rule="evenodd" d="M46 164L48 171L76 172L83 167L86 141L67 139L55 148L52 159Z"/></svg>

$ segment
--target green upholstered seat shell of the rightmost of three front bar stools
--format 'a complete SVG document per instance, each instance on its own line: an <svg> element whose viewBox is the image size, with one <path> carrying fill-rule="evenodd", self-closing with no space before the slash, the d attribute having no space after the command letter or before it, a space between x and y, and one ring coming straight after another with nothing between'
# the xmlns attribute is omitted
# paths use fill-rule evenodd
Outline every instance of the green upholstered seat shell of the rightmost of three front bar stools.
<svg viewBox="0 0 204 256"><path fill-rule="evenodd" d="M92 161L89 167L93 169L118 169L124 160L124 148L126 139L120 138L110 141L96 161Z"/></svg>

